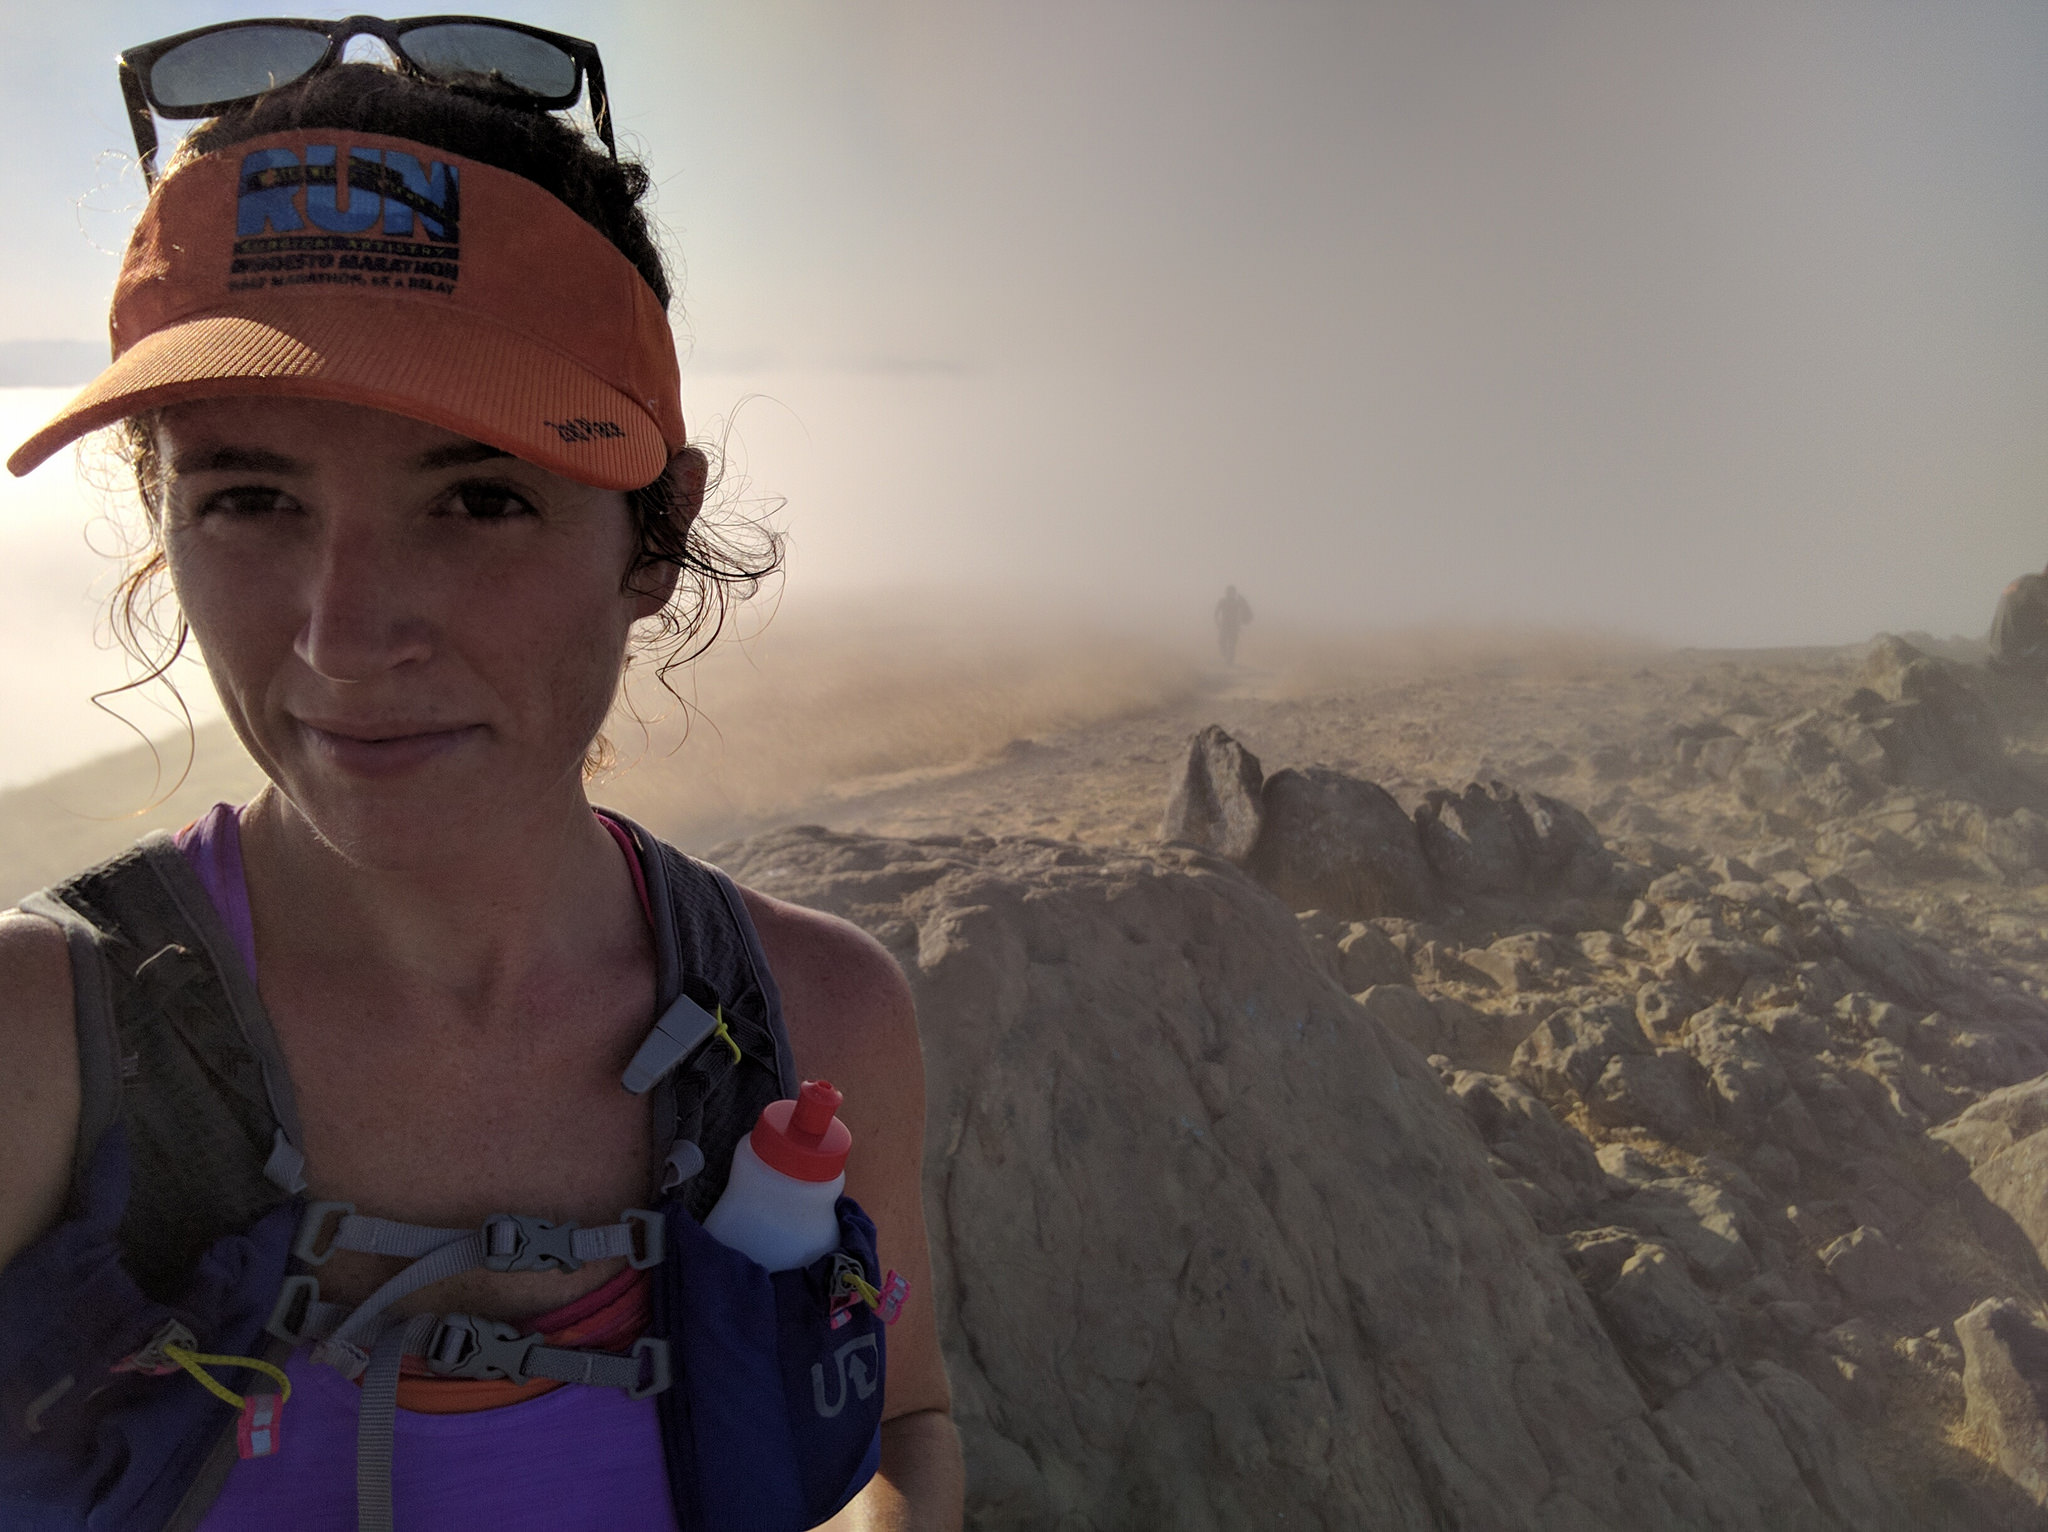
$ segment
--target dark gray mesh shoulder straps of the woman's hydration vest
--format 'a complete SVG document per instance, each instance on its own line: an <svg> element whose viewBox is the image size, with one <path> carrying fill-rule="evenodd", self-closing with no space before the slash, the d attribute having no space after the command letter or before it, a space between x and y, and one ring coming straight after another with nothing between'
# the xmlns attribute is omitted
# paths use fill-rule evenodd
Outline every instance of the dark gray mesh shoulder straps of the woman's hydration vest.
<svg viewBox="0 0 2048 1532"><path fill-rule="evenodd" d="M657 1016L688 997L717 1012L733 1042L696 1047L653 1086L649 1206L670 1194L700 1221L762 1106L797 1094L782 1006L731 879L608 817L627 829L647 883ZM80 1217L88 1169L119 1122L131 1176L121 1262L147 1299L176 1303L209 1245L305 1186L297 1106L270 1020L170 836L150 836L20 907L51 920L72 959L82 1102L68 1219ZM289 1352L272 1342L268 1360ZM229 1419L166 1528L203 1520L236 1456Z"/></svg>

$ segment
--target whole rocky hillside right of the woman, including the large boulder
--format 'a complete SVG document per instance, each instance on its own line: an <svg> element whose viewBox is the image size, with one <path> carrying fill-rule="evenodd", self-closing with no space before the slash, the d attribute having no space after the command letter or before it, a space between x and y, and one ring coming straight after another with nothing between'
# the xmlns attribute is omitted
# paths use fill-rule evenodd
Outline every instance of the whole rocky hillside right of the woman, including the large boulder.
<svg viewBox="0 0 2048 1532"><path fill-rule="evenodd" d="M903 963L975 1526L2048 1526L2048 707L1257 686L715 852Z"/></svg>

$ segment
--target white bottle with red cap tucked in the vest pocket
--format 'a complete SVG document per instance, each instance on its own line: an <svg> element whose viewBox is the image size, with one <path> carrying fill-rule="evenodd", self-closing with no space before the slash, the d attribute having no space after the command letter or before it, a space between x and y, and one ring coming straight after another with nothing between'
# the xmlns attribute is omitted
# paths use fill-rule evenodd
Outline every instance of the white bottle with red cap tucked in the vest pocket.
<svg viewBox="0 0 2048 1532"><path fill-rule="evenodd" d="M797 1100L768 1102L754 1133L733 1147L733 1174L705 1233L770 1272L838 1249L834 1204L846 1190L846 1151L854 1147L836 1116L844 1100L829 1079L807 1079Z"/></svg>

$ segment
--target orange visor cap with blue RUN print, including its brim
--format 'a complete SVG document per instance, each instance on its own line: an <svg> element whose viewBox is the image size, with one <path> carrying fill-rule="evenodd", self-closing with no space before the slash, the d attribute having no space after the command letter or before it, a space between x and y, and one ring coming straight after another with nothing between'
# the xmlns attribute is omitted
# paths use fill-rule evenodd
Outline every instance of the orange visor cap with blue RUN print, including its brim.
<svg viewBox="0 0 2048 1532"><path fill-rule="evenodd" d="M524 176L410 139L297 129L158 182L115 285L115 360L8 459L125 416L279 393L426 420L600 490L684 444L668 313Z"/></svg>

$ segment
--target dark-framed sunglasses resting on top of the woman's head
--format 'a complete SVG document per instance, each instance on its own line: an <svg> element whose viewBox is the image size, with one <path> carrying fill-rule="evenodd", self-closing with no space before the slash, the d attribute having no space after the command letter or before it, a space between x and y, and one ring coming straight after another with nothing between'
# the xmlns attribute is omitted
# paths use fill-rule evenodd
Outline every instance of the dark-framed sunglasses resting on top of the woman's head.
<svg viewBox="0 0 2048 1532"><path fill-rule="evenodd" d="M350 37L375 37L399 68L438 86L485 86L494 96L539 111L565 111L590 82L590 121L612 143L612 104L598 49L582 37L492 16L348 16L346 20L223 20L121 53L121 94L135 154L156 182L158 117L217 117L266 90L342 61Z"/></svg>

